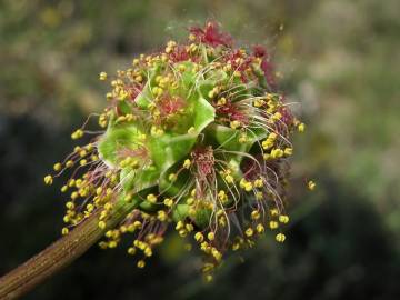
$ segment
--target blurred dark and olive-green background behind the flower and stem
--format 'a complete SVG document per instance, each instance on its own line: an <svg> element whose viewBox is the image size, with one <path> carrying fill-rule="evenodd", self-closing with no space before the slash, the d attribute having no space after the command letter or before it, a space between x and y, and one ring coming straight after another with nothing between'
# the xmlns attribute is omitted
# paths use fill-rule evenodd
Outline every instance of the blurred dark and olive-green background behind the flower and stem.
<svg viewBox="0 0 400 300"><path fill-rule="evenodd" d="M103 108L99 72L214 19L268 46L308 126L287 242L267 236L211 284L174 234L143 270L124 247L93 247L27 299L400 299L399 12L398 0L0 0L0 274L60 236L61 182L43 176Z"/></svg>

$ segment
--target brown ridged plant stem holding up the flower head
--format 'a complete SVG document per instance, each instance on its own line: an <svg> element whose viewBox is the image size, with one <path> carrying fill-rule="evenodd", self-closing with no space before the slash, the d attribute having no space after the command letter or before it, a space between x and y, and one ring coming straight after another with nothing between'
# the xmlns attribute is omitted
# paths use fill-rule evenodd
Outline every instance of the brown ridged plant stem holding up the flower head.
<svg viewBox="0 0 400 300"><path fill-rule="evenodd" d="M98 226L100 211L93 213L70 233L0 278L0 299L17 299L56 274L83 254L109 228L123 220L133 207L133 203L118 206L107 220L106 229Z"/></svg>

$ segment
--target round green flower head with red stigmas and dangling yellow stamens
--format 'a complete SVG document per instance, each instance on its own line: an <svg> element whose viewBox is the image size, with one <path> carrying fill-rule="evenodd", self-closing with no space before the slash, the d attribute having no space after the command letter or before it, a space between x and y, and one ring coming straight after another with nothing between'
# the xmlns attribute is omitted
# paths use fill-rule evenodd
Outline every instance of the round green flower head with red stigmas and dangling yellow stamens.
<svg viewBox="0 0 400 300"><path fill-rule="evenodd" d="M103 131L44 178L51 184L74 168L61 189L69 194L63 234L98 213L100 247L131 233L128 253L143 268L172 227L204 253L208 279L227 251L252 247L267 229L284 241L291 136L304 124L277 92L262 47L236 48L208 22L100 80L111 84L98 114ZM89 133L82 127L71 137ZM109 224L121 206L129 213Z"/></svg>

